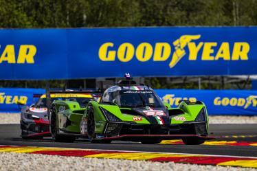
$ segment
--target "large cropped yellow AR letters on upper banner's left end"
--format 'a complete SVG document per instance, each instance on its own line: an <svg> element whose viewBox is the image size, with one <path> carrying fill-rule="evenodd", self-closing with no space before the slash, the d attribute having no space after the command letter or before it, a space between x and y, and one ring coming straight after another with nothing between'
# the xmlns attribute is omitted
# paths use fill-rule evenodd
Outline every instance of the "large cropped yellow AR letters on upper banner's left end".
<svg viewBox="0 0 257 171"><path fill-rule="evenodd" d="M17 47L15 47L17 48ZM0 45L0 64L34 64L34 56L36 55L36 46L20 45L19 52L14 52L14 45Z"/></svg>

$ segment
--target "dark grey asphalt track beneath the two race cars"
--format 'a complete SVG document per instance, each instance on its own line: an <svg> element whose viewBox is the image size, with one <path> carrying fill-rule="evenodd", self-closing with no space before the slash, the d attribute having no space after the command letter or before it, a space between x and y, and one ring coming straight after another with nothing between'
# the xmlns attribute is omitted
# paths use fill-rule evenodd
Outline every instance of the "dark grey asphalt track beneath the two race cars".
<svg viewBox="0 0 257 171"><path fill-rule="evenodd" d="M113 141L111 144L91 144L84 140L74 143L56 143L51 139L23 140L19 124L0 124L0 145L9 146L42 146L59 148L84 148L100 150L130 150L145 152L176 152L201 155L229 155L241 157L257 157L257 146L188 146L174 144L139 144L130 141ZM216 139L211 141L257 142L257 124L210 124L210 133ZM228 137L224 137L229 135ZM232 135L236 135L232 137ZM237 137L238 135L247 135ZM252 136L248 136L252 135Z"/></svg>

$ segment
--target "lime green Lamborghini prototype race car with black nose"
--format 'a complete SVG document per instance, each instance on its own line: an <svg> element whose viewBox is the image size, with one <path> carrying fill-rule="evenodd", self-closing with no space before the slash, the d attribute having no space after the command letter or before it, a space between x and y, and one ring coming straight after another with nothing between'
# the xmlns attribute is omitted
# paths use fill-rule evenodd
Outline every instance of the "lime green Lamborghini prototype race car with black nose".
<svg viewBox="0 0 257 171"><path fill-rule="evenodd" d="M172 109L153 89L133 80L110 87L100 102L89 98L83 104L55 100L49 105L54 141L84 137L98 143L126 140L155 144L164 139L182 139L184 144L203 144L211 139L203 102L181 101Z"/></svg>

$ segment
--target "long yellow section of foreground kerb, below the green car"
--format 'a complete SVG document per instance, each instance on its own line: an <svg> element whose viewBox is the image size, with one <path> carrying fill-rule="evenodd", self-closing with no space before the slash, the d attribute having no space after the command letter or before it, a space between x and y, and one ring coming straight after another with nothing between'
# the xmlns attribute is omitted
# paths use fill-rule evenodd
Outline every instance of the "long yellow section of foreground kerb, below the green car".
<svg viewBox="0 0 257 171"><path fill-rule="evenodd" d="M127 160L148 160L159 157L192 157L196 155L171 155L171 154L158 154L158 153L146 153L146 152L128 152L128 153L102 153L97 155L87 155L89 158L106 158L106 159L127 159Z"/></svg>

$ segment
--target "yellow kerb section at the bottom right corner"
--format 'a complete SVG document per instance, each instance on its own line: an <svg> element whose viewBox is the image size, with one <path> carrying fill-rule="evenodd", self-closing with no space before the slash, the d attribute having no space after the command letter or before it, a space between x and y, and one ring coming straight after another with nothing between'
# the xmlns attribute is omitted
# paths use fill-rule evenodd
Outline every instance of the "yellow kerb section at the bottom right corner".
<svg viewBox="0 0 257 171"><path fill-rule="evenodd" d="M257 168L257 160L236 160L218 163L219 166L241 166L245 168Z"/></svg>

